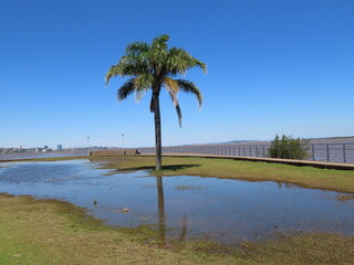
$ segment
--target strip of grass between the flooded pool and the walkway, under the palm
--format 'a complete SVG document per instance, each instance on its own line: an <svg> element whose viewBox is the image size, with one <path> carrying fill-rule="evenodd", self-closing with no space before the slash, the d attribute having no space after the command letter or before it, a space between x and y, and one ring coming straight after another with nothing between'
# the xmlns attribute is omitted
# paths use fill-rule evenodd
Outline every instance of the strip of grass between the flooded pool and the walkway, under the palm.
<svg viewBox="0 0 354 265"><path fill-rule="evenodd" d="M91 158L113 170L150 170L154 157ZM201 176L249 181L280 181L300 187L354 193L354 171L212 158L164 157L160 176Z"/></svg>

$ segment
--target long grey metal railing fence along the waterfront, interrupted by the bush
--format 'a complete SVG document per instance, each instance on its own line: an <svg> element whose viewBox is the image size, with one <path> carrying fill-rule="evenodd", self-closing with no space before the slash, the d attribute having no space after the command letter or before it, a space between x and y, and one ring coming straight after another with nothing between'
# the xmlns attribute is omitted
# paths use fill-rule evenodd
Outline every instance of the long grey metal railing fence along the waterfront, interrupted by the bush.
<svg viewBox="0 0 354 265"><path fill-rule="evenodd" d="M309 158L313 161L354 162L354 144L309 144ZM200 153L233 157L269 157L268 145L196 145L163 147L167 153ZM155 148L139 148L140 153L155 153Z"/></svg>

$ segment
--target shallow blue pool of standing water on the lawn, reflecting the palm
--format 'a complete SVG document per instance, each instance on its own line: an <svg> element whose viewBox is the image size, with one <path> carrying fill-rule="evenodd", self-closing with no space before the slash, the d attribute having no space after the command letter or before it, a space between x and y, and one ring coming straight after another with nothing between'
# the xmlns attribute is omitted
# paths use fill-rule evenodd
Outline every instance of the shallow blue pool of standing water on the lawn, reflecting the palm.
<svg viewBox="0 0 354 265"><path fill-rule="evenodd" d="M152 224L167 239L237 243L278 232L354 234L354 200L339 200L345 193L272 181L117 173L100 166L90 160L0 163L0 192L69 201L108 225ZM129 211L118 212L124 208Z"/></svg>

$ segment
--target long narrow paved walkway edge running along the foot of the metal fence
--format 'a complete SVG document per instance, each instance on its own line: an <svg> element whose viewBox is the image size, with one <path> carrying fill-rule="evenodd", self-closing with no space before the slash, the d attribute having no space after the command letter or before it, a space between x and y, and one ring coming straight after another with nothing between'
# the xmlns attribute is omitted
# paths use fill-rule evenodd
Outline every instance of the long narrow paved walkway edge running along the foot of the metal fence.
<svg viewBox="0 0 354 265"><path fill-rule="evenodd" d="M142 153L142 156L155 156L155 155ZM325 169L354 170L354 163L310 161L310 160L282 159L282 158L238 157L238 156L185 153L185 152L163 153L163 157L222 158L222 159L247 160L247 161L259 161L259 162L287 163L287 165L293 165L293 166L309 166L309 167L325 168Z"/></svg>

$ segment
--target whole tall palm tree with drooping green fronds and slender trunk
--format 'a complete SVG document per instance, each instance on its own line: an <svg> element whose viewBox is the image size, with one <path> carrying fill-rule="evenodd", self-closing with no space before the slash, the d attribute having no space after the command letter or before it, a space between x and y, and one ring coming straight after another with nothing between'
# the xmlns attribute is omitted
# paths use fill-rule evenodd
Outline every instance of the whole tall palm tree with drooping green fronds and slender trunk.
<svg viewBox="0 0 354 265"><path fill-rule="evenodd" d="M106 85L113 76L129 77L117 91L117 99L124 100L135 93L137 100L152 89L150 112L155 119L156 170L162 169L162 125L159 110L159 94L162 87L168 92L178 115L181 126L181 112L177 100L179 91L191 93L197 97L199 107L202 95L198 87L186 80L175 80L178 75L186 74L187 70L200 67L205 73L206 64L192 57L183 49L168 49L169 36L164 34L154 39L152 44L135 42L127 45L125 55L119 62L112 65L106 74Z"/></svg>

